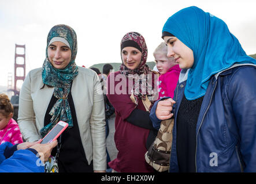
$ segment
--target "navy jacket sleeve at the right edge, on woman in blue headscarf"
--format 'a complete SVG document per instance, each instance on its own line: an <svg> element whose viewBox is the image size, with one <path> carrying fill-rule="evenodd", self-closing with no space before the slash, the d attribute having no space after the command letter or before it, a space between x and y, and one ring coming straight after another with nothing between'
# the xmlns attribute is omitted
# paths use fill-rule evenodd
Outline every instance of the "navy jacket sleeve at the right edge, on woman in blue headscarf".
<svg viewBox="0 0 256 184"><path fill-rule="evenodd" d="M244 172L256 172L256 68L246 67L233 75L228 97L239 129Z"/></svg>

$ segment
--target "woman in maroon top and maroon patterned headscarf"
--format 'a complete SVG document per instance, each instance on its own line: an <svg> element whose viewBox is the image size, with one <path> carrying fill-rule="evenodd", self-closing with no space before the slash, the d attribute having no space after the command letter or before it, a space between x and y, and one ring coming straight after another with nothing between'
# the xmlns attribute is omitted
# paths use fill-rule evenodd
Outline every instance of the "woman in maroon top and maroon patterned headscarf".
<svg viewBox="0 0 256 184"><path fill-rule="evenodd" d="M144 155L157 133L148 111L158 98L154 86L158 75L146 65L147 45L141 34L125 34L121 59L120 71L107 78L107 98L116 110L114 140L118 150L109 166L117 172L152 172Z"/></svg>

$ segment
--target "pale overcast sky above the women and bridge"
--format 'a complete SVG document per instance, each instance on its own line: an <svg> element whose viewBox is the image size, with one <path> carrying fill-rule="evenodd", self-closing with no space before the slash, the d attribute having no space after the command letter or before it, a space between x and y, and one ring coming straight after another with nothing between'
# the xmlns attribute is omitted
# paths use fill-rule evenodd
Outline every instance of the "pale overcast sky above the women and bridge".
<svg viewBox="0 0 256 184"><path fill-rule="evenodd" d="M120 41L130 31L143 35L151 62L165 21L188 6L224 20L244 51L256 53L255 0L0 0L0 85L7 86L8 72L14 73L15 44L25 44L26 74L42 67L47 34L57 24L76 31L78 66L121 62Z"/></svg>

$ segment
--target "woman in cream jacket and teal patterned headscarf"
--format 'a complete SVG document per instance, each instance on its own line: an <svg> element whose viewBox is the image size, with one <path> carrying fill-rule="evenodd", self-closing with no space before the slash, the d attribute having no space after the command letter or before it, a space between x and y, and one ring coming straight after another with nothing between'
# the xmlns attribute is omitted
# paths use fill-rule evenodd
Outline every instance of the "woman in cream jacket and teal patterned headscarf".
<svg viewBox="0 0 256 184"><path fill-rule="evenodd" d="M43 67L29 72L20 91L18 124L27 141L42 139L58 121L60 172L106 170L105 111L97 74L75 63L75 30L55 25L47 37Z"/></svg>

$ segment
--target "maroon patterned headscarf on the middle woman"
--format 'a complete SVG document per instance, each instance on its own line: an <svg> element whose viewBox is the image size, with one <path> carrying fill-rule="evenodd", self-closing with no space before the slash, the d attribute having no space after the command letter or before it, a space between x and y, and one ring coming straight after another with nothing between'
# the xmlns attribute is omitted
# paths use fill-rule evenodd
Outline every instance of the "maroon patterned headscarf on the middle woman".
<svg viewBox="0 0 256 184"><path fill-rule="evenodd" d="M139 66L133 70L129 69L124 65L123 59L121 57L123 63L120 66L120 72L121 74L124 74L127 78L132 78L133 80L132 94L135 98L135 104L137 106L138 100L146 99L147 95L151 102L151 106L153 106L155 99L158 98L158 90L156 87L154 88L154 84L156 83L155 79L158 76L156 76L146 64L147 45L144 37L137 32L129 32L125 34L125 36L121 40L121 52L125 47L135 47L139 49L140 52L142 52L142 60Z"/></svg>

